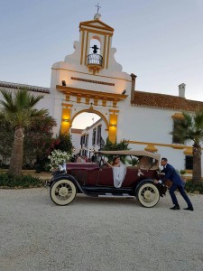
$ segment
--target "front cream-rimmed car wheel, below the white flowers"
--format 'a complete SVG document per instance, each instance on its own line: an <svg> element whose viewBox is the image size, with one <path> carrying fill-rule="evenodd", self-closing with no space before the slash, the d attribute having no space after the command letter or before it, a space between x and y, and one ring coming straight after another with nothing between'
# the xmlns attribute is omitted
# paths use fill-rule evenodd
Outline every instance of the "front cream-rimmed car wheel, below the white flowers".
<svg viewBox="0 0 203 271"><path fill-rule="evenodd" d="M51 200L58 205L68 205L75 199L76 194L76 186L69 180L60 180L51 186Z"/></svg>

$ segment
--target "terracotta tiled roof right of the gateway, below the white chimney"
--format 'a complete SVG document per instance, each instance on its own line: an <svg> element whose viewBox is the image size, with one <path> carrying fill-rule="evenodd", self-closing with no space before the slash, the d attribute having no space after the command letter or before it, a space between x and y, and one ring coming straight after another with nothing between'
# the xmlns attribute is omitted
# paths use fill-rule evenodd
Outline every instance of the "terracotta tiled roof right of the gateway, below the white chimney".
<svg viewBox="0 0 203 271"><path fill-rule="evenodd" d="M138 90L134 91L134 102L132 104L140 107L157 107L182 111L194 111L196 107L203 110L203 102L200 101Z"/></svg>

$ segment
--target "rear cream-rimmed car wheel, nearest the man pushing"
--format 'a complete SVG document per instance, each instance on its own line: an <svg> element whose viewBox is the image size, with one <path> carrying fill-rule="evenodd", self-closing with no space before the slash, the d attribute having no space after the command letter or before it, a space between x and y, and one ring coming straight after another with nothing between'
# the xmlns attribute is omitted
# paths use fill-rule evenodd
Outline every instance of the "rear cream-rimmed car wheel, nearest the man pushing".
<svg viewBox="0 0 203 271"><path fill-rule="evenodd" d="M144 207L153 207L160 200L160 192L152 182L144 182L137 191L138 201Z"/></svg>

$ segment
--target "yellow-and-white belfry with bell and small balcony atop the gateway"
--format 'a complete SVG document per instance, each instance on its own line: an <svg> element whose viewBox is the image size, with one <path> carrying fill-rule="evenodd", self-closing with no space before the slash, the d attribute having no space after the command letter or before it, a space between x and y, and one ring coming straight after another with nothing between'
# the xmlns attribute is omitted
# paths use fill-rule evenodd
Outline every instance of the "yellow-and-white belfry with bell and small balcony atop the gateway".
<svg viewBox="0 0 203 271"><path fill-rule="evenodd" d="M101 22L100 18L101 15L97 13L94 20L79 23L80 65L86 65L93 74L108 69L114 33L114 28Z"/></svg>

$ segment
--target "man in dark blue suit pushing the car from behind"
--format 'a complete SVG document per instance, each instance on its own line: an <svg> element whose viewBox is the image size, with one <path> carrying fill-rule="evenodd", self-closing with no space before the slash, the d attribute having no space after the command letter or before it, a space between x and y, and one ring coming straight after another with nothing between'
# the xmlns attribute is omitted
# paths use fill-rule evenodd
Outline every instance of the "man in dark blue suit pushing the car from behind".
<svg viewBox="0 0 203 271"><path fill-rule="evenodd" d="M186 194L184 190L184 182L182 181L180 174L176 172L174 167L171 164L168 164L167 158L161 158L161 166L163 166L162 173L165 173L164 177L158 182L165 182L166 180L170 180L172 182L171 188L170 188L170 195L172 203L174 204L173 207L171 207L171 210L180 210L179 202L176 198L175 191L178 189L180 192L180 195L183 197L183 199L187 202L188 207L184 208L184 210L194 210L191 201L189 201L189 197Z"/></svg>

